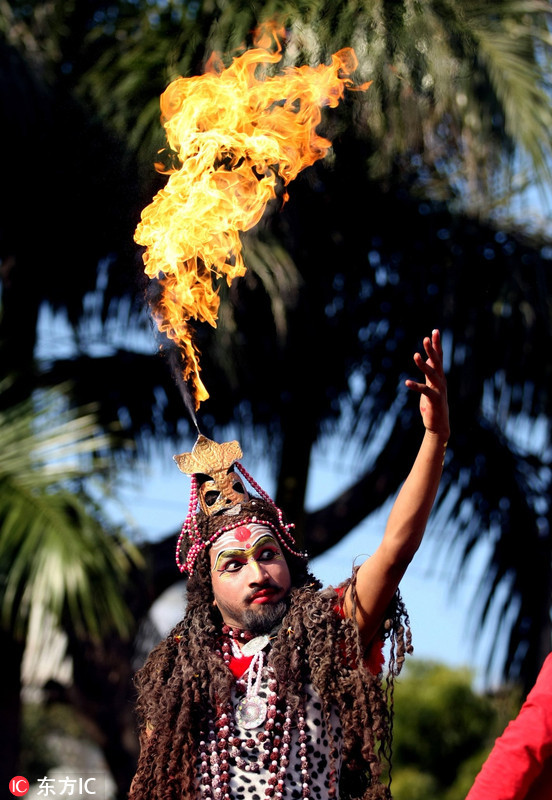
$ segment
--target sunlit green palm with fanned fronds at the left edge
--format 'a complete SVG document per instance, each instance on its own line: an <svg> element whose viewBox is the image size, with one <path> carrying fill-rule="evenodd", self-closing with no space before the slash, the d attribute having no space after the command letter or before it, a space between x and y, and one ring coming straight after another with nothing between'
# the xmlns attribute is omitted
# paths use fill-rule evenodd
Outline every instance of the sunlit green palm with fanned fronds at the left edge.
<svg viewBox="0 0 552 800"><path fill-rule="evenodd" d="M5 384L4 384L5 385ZM0 690L2 779L17 774L21 660L30 627L53 621L81 636L126 637L121 588L140 563L112 530L90 481L107 492L103 434L93 409L68 410L61 392L0 411ZM98 489L96 489L97 491Z"/></svg>

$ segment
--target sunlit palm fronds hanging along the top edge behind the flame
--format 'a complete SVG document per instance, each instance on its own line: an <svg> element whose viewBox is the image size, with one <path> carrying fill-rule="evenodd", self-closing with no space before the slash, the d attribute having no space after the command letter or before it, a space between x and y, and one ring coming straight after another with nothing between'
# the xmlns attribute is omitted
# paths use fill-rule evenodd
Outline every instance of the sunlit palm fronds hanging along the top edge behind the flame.
<svg viewBox="0 0 552 800"><path fill-rule="evenodd" d="M157 98L169 81L201 72L213 51L228 63L272 20L286 26L291 45L282 65L318 64L341 47L355 48L360 78L373 81L364 103L355 98L357 134L372 142L373 177L385 182L402 159L401 169L426 188L482 212L519 191L507 185L512 171L518 181L549 180L550 9L541 0L231 3L218 10L168 2L154 11L119 3L117 15L94 28L93 65L85 62L79 92L147 174L164 143ZM409 164L413 155L417 163Z"/></svg>

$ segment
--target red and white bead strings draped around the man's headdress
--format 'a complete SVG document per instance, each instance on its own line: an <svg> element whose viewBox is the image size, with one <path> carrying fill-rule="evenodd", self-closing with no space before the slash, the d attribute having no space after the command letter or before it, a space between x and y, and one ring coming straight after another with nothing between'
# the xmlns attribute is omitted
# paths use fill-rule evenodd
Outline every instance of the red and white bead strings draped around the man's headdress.
<svg viewBox="0 0 552 800"><path fill-rule="evenodd" d="M198 493L197 493L197 478L195 475L191 476L191 486L190 486L190 505L188 507L188 514L186 515L186 519L184 520L184 524L182 525L182 530L180 532L180 536L178 537L178 541L176 543L176 563L180 572L187 572L188 575L193 575L194 566L198 555L205 550L207 547L210 547L213 542L215 542L219 536L222 536L223 533L226 531L231 531L237 525L247 525L250 522L255 522L257 525L266 525L267 528L270 528L271 531L277 536L280 544L292 555L298 558L307 558L306 553L302 553L296 549L297 545L293 536L291 535L290 531L293 530L295 525L293 523L285 523L283 514L281 509L278 508L276 503L269 497L269 495L261 489L258 483L253 480L253 478L249 475L246 469L239 463L235 462L235 466L244 476L244 478L249 482L249 484L259 493L259 495L265 500L267 503L270 503L271 506L275 509L279 525L275 525L270 520L262 519L257 515L252 515L247 519L242 519L239 522L236 520L232 520L229 518L229 521L215 531L211 536L207 539L202 539L201 534L199 532L199 527L197 524L197 513L198 513ZM225 517L228 519L228 517ZM188 537L191 540L191 545L186 555L186 561L184 563L180 560L181 548L183 540Z"/></svg>

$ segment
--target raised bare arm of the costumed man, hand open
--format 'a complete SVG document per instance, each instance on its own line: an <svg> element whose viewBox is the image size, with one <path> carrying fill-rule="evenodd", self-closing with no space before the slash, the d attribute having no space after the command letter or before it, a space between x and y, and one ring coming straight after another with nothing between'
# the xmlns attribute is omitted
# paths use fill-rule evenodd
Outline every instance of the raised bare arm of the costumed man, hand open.
<svg viewBox="0 0 552 800"><path fill-rule="evenodd" d="M356 580L356 617L364 644L378 630L407 566L420 546L433 506L450 435L447 384L439 331L424 339L427 359L414 355L424 383L407 380L420 395L420 413L425 426L414 465L389 515L381 544L359 568ZM345 613L353 609L351 589L345 595Z"/></svg>

